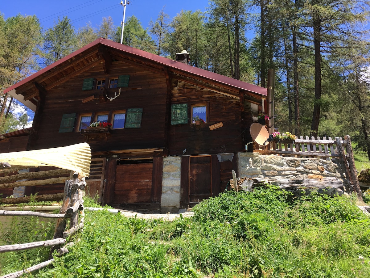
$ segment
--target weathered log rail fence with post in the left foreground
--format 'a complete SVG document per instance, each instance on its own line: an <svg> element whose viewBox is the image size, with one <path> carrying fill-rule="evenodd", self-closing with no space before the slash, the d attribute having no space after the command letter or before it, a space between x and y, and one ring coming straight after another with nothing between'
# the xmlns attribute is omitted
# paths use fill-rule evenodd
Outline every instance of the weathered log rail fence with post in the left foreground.
<svg viewBox="0 0 370 278"><path fill-rule="evenodd" d="M33 166L25 166L25 167L30 168ZM65 171L70 172L70 170L65 170ZM51 171L47 171L47 172L50 173ZM40 172L37 172L37 173L40 173ZM55 175L55 173L56 172L53 172L52 175ZM58 173L64 173L64 172L61 171ZM7 178L7 177L4 177L4 178ZM35 182L35 181L32 181L32 182ZM0 185L0 188L1 186L2 185ZM10 186L13 187L13 185L10 185ZM23 243L23 244L0 246L0 252L19 251L19 250L26 250L26 249L37 248L37 247L51 246L49 260L42 262L41 264L34 265L33 267L29 267L27 269L23 269L23 270L20 270L20 271L11 273L11 274L3 275L0 278L20 277L21 275L25 273L35 271L37 269L43 268L51 264L54 261L54 259L51 256L54 250L57 250L58 256L61 256L68 252L67 247L73 245L73 242L68 243L64 247L61 247L61 248L59 247L61 244L65 243L66 241L65 238L67 238L67 236L77 232L79 229L82 229L84 226L84 206L83 206L84 201L82 197L84 194L85 186L86 186L85 178L78 179L78 173L73 174L73 179L68 179L65 181L64 193L62 193L63 194L63 204L61 206L59 214L46 214L46 213L34 212L34 211L3 211L3 210L0 210L0 216L37 216L37 217L45 217L45 218L58 218L53 239L46 240L46 241L39 241L39 242L29 242L29 243ZM19 199L19 198L11 198L11 199ZM68 218L70 219L70 227L69 229L65 230L66 220Z"/></svg>

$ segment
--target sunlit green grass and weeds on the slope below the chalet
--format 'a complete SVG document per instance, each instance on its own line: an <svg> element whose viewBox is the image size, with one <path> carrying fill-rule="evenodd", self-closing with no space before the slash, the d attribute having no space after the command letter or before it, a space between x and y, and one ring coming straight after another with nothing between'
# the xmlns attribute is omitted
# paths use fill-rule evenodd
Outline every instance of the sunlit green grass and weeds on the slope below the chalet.
<svg viewBox="0 0 370 278"><path fill-rule="evenodd" d="M355 201L266 187L222 193L173 222L86 212L70 252L26 277L370 277L370 219ZM35 259L11 253L0 275Z"/></svg>

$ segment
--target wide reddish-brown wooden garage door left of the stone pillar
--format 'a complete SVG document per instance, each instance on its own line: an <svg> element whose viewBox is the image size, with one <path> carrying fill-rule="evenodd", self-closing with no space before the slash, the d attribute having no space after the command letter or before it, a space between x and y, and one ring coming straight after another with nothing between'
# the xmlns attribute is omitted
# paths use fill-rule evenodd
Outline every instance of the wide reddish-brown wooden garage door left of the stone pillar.
<svg viewBox="0 0 370 278"><path fill-rule="evenodd" d="M117 165L113 203L151 201L153 163Z"/></svg>

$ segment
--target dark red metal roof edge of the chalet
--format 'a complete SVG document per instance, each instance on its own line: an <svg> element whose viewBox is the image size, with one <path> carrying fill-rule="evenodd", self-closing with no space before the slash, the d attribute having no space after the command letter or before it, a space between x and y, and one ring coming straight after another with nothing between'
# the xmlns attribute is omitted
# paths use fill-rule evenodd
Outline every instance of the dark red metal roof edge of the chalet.
<svg viewBox="0 0 370 278"><path fill-rule="evenodd" d="M159 64L162 64L164 66L175 68L177 70L181 70L181 71L190 73L194 76L199 76L199 77L215 80L215 81L217 81L219 83L222 83L222 84L225 84L225 85L233 86L233 87L243 89L243 90L248 90L250 92L257 93L257 94L262 95L262 96L267 96L267 89L264 88L264 87L256 86L256 85L246 83L246 82L243 82L243 81L240 81L240 80L237 80L237 79L233 79L233 78L230 78L230 77L227 77L227 76L219 75L219 74L214 73L214 72L209 72L207 70L199 69L197 67L193 67L193 66L190 66L188 64L184 64L184 63L181 63L181 62L176 62L174 60L171 60L171 59L168 59L168 58L165 58L165 57L162 57L162 56L158 56L158 55L155 55L155 54L152 54L152 53L149 53L149 52L145 52L145 51L140 50L140 49L129 47L125 44L120 44L120 43L113 42L111 40L107 40L107 39L103 39L103 38L99 38L99 39L95 40L94 42L87 44L86 46L76 50L75 52L69 54L68 56L65 56L64 58L62 58L62 59L58 60L57 62L51 64L50 66L47 66L44 69L39 70L38 72L34 73L33 75L28 76L27 78L25 78L25 79L21 80L20 82L14 84L13 86L10 86L9 88L5 89L4 93L10 92L11 90L16 90L21 85L24 85L27 82L30 82L31 80L33 80L36 77L42 75L43 73L47 73L48 71L54 69L55 67L62 64L63 62L73 58L77 54L80 54L80 53L84 52L85 50L89 49L90 47L96 46L97 44L102 44L102 45L111 47L113 49L121 50L123 52L130 53L134 56L146 58L146 59L152 60L154 62L157 62Z"/></svg>

